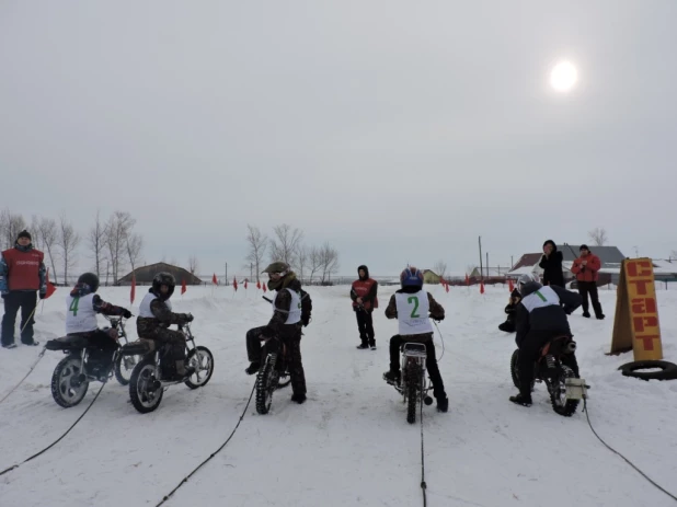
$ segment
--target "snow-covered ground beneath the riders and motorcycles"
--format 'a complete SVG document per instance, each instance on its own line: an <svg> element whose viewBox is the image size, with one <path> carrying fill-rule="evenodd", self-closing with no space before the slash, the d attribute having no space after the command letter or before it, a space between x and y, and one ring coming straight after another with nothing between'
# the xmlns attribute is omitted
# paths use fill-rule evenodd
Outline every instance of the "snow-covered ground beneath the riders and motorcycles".
<svg viewBox="0 0 677 507"><path fill-rule="evenodd" d="M484 296L477 287L431 289L447 310L439 325L446 345L440 369L450 400L447 414L424 408L431 507L675 505L599 443L581 411L572 418L552 412L542 385L530 408L508 402L515 392L508 367L514 335L496 329L507 289L489 287ZM406 423L401 397L381 379L397 329L383 315L393 290L381 289L379 348L371 352L355 348L347 287L312 287L313 321L302 341L307 403L290 402L289 388L276 393L268 415L257 415L252 402L230 443L164 505L422 505L420 426ZM114 303L129 301L128 288L100 293ZM250 288L249 297L243 290L233 297L231 288L218 288L213 297L213 289L200 287L175 296L175 310L193 312L197 343L215 355L209 384L196 391L172 387L156 412L141 415L127 388L111 381L61 442L0 477L0 505L157 505L225 441L244 410L254 382L243 372L244 333L269 315L260 295ZM38 308L36 339L43 344L64 333L65 296L61 288ZM616 292L601 290L600 298L607 320L586 320L581 311L571 318L581 371L593 387L590 418L608 443L677 493L677 381L644 382L617 371L632 357L605 356ZM664 355L677 361L677 291L659 291L658 300ZM38 353L23 346L0 350L0 397ZM51 443L101 385L91 384L79 406L59 407L49 381L61 357L47 352L0 404L0 469Z"/></svg>

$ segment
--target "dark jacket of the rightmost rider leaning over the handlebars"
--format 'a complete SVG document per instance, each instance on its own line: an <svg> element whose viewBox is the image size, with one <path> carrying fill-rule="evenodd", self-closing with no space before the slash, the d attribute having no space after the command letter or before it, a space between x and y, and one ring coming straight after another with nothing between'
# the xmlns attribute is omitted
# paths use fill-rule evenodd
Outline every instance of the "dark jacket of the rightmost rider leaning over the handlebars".
<svg viewBox="0 0 677 507"><path fill-rule="evenodd" d="M546 306L530 304L529 297L544 300L546 298L539 293L539 290L544 292L546 289L554 291L554 295L550 292L552 301ZM576 292L563 289L556 285L543 287L536 281L525 285L523 299L517 304L516 311L517 336L515 342L517 346L521 346L527 334L531 332L540 333L541 335L552 334L553 337L556 335L571 336L569 320L561 303L564 303L573 311L583 303L583 298Z"/></svg>

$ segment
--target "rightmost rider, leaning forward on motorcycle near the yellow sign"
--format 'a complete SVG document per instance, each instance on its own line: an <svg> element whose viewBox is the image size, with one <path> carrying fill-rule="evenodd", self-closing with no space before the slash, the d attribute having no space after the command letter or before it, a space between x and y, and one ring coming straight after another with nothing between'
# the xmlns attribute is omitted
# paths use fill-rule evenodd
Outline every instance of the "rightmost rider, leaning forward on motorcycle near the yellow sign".
<svg viewBox="0 0 677 507"><path fill-rule="evenodd" d="M517 289L521 295L515 316L520 387L519 394L510 396L509 400L518 405L531 406L533 365L541 347L558 336L573 337L562 303L567 310L574 311L583 300L576 292L561 287L554 285L543 287L538 275L521 275ZM578 365L573 353L567 354L564 361L574 373L578 375Z"/></svg>

